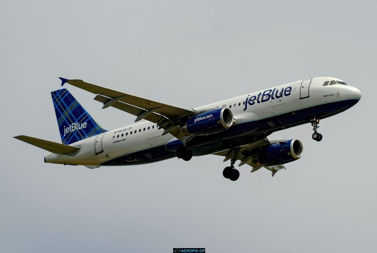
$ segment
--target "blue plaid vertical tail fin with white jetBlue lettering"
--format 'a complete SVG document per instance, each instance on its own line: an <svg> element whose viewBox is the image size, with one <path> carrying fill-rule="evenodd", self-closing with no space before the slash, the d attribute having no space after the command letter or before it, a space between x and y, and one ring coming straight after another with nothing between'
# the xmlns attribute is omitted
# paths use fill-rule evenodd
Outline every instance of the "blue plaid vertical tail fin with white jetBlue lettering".
<svg viewBox="0 0 377 253"><path fill-rule="evenodd" d="M69 145L106 132L67 89L55 90L51 96L63 144Z"/></svg>

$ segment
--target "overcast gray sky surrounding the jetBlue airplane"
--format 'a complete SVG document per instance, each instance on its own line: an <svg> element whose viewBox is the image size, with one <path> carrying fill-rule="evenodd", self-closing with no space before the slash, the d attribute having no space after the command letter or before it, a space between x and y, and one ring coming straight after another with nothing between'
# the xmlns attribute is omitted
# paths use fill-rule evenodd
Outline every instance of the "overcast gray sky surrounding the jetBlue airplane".
<svg viewBox="0 0 377 253"><path fill-rule="evenodd" d="M376 234L376 1L0 1L1 252L371 252ZM361 101L270 139L303 157L271 178L217 156L86 169L43 163L25 134L60 141L59 76L197 107L332 76ZM101 110L106 129L134 116Z"/></svg>

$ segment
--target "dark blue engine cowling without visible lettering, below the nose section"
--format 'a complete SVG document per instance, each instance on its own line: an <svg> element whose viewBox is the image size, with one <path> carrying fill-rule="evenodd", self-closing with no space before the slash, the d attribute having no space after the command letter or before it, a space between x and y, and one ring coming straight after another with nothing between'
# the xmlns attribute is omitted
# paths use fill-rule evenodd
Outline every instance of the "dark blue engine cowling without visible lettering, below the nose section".
<svg viewBox="0 0 377 253"><path fill-rule="evenodd" d="M299 159L302 156L302 152L301 141L280 141L262 147L252 156L252 162L256 167L286 164Z"/></svg>

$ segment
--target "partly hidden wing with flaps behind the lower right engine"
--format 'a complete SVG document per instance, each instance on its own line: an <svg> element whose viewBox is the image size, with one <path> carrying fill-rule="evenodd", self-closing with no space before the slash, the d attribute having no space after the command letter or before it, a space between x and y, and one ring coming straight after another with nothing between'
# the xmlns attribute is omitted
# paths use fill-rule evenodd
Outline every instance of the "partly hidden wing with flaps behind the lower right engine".
<svg viewBox="0 0 377 253"><path fill-rule="evenodd" d="M267 138L253 142L251 144L247 144L244 146L239 147L238 149L235 150L235 159L241 161L239 166L242 166L244 164L247 164L251 167L253 167L252 161L251 161L251 156L254 154L255 148L266 146L269 144L273 144L279 141L269 141ZM218 156L225 156L224 162L228 161L232 158L232 150L231 149L226 149L220 152L215 153L214 155ZM257 171L258 169L261 169L262 167L253 167L251 172ZM268 169L272 172L272 176L275 175L277 171L280 169L285 169L284 165L274 165L274 166L263 166L263 168Z"/></svg>

